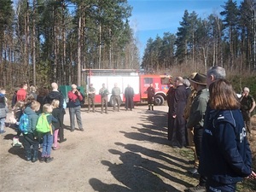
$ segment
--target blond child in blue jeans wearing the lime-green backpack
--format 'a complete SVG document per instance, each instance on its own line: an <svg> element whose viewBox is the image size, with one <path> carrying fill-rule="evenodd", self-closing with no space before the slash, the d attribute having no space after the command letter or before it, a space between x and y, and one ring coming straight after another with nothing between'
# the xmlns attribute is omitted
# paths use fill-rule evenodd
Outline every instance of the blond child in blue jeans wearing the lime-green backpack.
<svg viewBox="0 0 256 192"><path fill-rule="evenodd" d="M57 119L55 119L53 116L52 116L52 106L50 104L44 104L43 106L43 114L48 114L49 115L46 117L47 120L48 120L48 123L49 125L51 125L52 122L57 122ZM42 156L41 156L41 160L40 162L46 162L46 163L49 163L51 162L54 158L53 157L50 157L50 152L51 152L51 146L52 146L52 143L53 143L53 135L52 135L52 131L49 131L48 133L44 134L43 136L43 150L42 150Z"/></svg>

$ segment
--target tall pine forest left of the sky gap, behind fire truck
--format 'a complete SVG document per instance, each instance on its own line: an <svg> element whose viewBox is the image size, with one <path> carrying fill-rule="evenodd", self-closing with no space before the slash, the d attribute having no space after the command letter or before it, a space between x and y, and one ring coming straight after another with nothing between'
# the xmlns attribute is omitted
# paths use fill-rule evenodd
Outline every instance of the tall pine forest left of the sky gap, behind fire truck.
<svg viewBox="0 0 256 192"><path fill-rule="evenodd" d="M0 0L0 86L80 84L84 68L137 69L130 16L127 0Z"/></svg>

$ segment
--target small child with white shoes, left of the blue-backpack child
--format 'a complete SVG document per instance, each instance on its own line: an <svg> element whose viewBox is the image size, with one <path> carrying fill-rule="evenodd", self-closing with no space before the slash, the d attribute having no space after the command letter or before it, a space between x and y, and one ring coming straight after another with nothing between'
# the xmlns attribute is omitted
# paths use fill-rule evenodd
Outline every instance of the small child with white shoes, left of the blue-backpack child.
<svg viewBox="0 0 256 192"><path fill-rule="evenodd" d="M19 121L20 121L20 116L22 114L22 108L24 107L24 102L16 102L14 106L14 116L15 116L15 129L17 131L16 136L13 138L13 146L14 147L20 147L21 143L19 142L19 137L21 134L21 131L19 129Z"/></svg>

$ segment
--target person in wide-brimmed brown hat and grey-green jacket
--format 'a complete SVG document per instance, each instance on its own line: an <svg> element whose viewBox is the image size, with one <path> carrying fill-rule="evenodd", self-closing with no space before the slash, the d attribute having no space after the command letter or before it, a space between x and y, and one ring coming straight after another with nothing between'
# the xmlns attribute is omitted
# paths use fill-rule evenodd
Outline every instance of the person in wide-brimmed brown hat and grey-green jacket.
<svg viewBox="0 0 256 192"><path fill-rule="evenodd" d="M190 130L194 129L195 154L197 159L200 160L201 140L204 131L204 116L207 110L207 102L209 99L209 91L207 90L207 76L201 73L196 73L195 77L189 80L196 90L196 96L192 102L189 119L186 126ZM193 174L198 174L198 166L199 163L195 163L194 169L190 172ZM203 181L206 179L203 177L201 179L202 182L200 183L200 186L204 187L205 183Z"/></svg>

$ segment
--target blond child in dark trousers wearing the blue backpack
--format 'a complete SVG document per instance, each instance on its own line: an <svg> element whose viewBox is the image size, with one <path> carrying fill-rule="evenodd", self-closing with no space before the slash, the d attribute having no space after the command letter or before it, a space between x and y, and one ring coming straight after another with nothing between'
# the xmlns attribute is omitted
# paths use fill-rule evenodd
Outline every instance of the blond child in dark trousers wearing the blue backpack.
<svg viewBox="0 0 256 192"><path fill-rule="evenodd" d="M27 133L24 134L24 149L26 160L32 160L36 162L38 160L38 139L36 138L36 125L38 123L38 114L36 113L40 108L40 103L33 101L30 106L24 109L24 113L27 114L29 124ZM32 149L31 149L32 146Z"/></svg>

